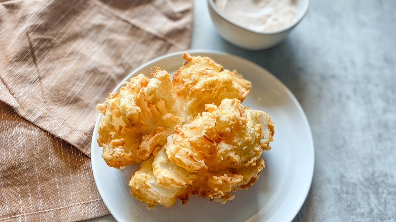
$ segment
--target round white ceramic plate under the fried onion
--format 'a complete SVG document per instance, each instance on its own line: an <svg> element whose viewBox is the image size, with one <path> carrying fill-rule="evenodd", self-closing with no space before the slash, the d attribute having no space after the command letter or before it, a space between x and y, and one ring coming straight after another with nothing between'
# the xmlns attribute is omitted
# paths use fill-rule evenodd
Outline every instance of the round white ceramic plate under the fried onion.
<svg viewBox="0 0 396 222"><path fill-rule="evenodd" d="M208 56L226 69L237 69L252 82L252 89L242 104L263 110L275 125L274 141L270 143L272 150L262 154L266 168L253 187L237 191L236 198L225 205L192 196L184 206L178 200L172 208L158 206L156 210L147 210L146 204L129 193L128 180L137 164L117 170L108 167L101 157L102 147L96 142L100 115L92 136L92 170L97 189L111 214L118 221L292 220L307 197L314 169L311 130L299 102L271 73L248 60L220 52L187 52L193 56ZM139 73L150 75L154 66L172 75L182 64L182 52L161 56L140 66L122 82Z"/></svg>

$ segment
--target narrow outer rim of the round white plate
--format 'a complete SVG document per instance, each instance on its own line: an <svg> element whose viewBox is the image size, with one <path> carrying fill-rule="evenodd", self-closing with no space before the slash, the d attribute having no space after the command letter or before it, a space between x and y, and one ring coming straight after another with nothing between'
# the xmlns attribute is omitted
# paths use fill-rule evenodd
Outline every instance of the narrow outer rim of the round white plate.
<svg viewBox="0 0 396 222"><path fill-rule="evenodd" d="M311 127L310 127L308 118L307 118L307 116L306 116L306 114L305 114L305 112L304 112L304 109L302 108L300 102L295 98L294 94L289 90L289 88L287 88L286 85L284 85L282 81L280 81L275 75L273 75L273 74L272 74L270 71L268 71L266 68L262 67L261 65L255 63L255 62L253 62L253 61L250 61L250 60L248 60L248 59L246 59L246 58L243 58L243 57L238 56L238 55L230 54L230 53L227 53L227 52L222 52L222 51L217 51L217 50L206 50L206 49L202 49L202 50L201 50L201 49L187 49L187 50L182 50L182 51L177 51L177 52L172 52L172 53L164 54L164 55L161 55L161 56L159 56L159 57L156 57L156 58L154 58L154 59L151 59L151 60L149 60L149 61L143 63L142 65L140 65L140 66L138 66L137 68L135 68L135 69L133 69L132 71L130 71L130 72L120 81L120 83L117 84L117 85L115 86L115 88L113 89L113 91L118 91L118 89L119 89L120 86L123 84L123 82L128 81L128 80L131 78L131 75L133 75L134 72L137 72L138 70L140 70L140 69L142 69L142 68L148 66L148 65L151 64L151 63L154 63L154 62L157 62L157 61L162 60L162 59L164 59L164 58L172 57L172 56L175 56L175 55L182 55L183 53L211 53L211 54L218 54L218 55L222 55L222 56L230 56L230 57L235 57L235 58L237 58L237 59L243 60L244 62L248 63L249 65L257 66L257 67L259 67L260 69L266 71L272 78L275 79L275 81L278 81L279 84L281 84L281 85L284 87L286 93L290 96L291 100L296 104L297 108L299 109L299 112L302 114L304 124L306 125L306 127L307 127L307 129L308 129L308 132L307 132L307 133L308 133L308 135L309 135L309 140L307 140L307 141L308 141L308 143L310 144L310 148L311 148L311 149L309 149L309 151L311 151L309 156L311 156L312 164L310 165L310 167L309 167L309 172L308 172L308 173L309 173L309 186L305 187L304 191L302 190L303 193L304 193L304 195L303 195L304 198L301 199L301 200L299 200L299 201L297 201L298 204L296 204L296 205L298 205L299 207L296 208L296 209L294 210L294 212L290 214L290 215L291 215L291 218L289 219L289 221L292 221L292 220L295 218L295 216L300 212L301 208L303 207L303 205L304 205L304 203L305 203L305 201L306 201L306 199L307 199L307 197L308 197L309 191L310 191L310 189L311 189L311 187L312 187L312 180L313 180L313 175L314 175L314 170L315 170L315 169L314 169L314 168L315 168L315 167L314 167L314 166L315 166L315 147L314 147L314 142L313 142L312 130L311 130ZM92 132L92 139L91 139L91 154L92 154L92 151L93 151L93 148L94 148L94 147L93 147L93 144L97 142L97 141L96 141L96 138L94 137L94 133L95 133L95 129L97 128L96 126L97 126L97 125L100 123L100 121L101 121L101 117L102 117L102 114L99 114L98 117L97 117L97 119L96 119L95 125L94 125L94 130L93 130L93 132ZM103 195L102 195L102 192L103 192L103 191L101 191L101 189L97 186L97 184L98 184L98 175L97 175L97 174L95 173L95 171L93 170L93 166L95 165L94 163L96 162L96 160L95 160L94 158L92 158L92 155L90 155L90 159L91 159L91 169L92 169L92 174L93 174L93 178L94 178L94 181L95 181L95 186L96 186L96 188L97 188L99 194L101 195L101 198L102 198L103 202L105 203L106 207L109 209L111 215L112 215L117 221L121 221L120 218L118 217L118 215L113 214L113 212L112 212L112 210L111 210L112 207L111 207L111 205L108 203L108 201L105 200L105 199L103 198ZM110 206L110 207L109 207L109 206Z"/></svg>

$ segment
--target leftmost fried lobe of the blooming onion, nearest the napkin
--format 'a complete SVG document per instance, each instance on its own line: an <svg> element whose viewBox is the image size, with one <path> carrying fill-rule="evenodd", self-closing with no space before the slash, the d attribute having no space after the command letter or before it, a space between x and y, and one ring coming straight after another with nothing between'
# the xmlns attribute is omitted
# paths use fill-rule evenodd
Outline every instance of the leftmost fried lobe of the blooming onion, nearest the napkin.
<svg viewBox="0 0 396 222"><path fill-rule="evenodd" d="M119 169L155 155L179 123L169 73L156 68L152 76L130 79L120 94L113 92L104 104L97 105L103 114L97 142L111 167Z"/></svg>

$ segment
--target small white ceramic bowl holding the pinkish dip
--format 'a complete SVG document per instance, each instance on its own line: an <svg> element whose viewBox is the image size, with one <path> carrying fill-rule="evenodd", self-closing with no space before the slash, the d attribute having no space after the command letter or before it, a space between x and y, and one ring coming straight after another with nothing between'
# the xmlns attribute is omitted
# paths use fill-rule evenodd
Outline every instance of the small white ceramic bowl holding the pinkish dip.
<svg viewBox="0 0 396 222"><path fill-rule="evenodd" d="M216 8L213 0L208 0L208 8L217 32L228 42L244 49L267 49L282 42L287 34L308 11L309 0L295 0L296 16L292 24L276 31L253 31L225 18Z"/></svg>

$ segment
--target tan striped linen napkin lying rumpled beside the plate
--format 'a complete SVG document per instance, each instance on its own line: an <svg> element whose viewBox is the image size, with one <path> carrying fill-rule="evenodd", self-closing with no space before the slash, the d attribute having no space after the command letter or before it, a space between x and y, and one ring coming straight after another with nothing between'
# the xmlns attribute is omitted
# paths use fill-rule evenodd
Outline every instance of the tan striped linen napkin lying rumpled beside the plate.
<svg viewBox="0 0 396 222"><path fill-rule="evenodd" d="M192 2L0 3L0 220L108 214L93 181L95 106L190 43Z"/></svg>

